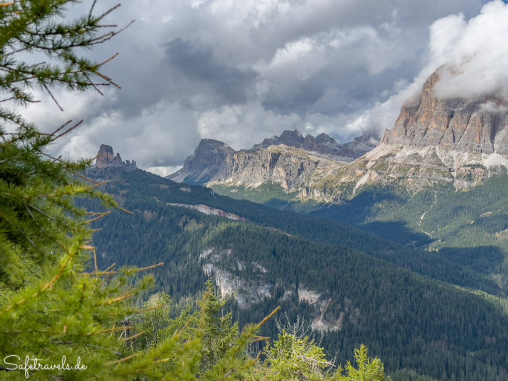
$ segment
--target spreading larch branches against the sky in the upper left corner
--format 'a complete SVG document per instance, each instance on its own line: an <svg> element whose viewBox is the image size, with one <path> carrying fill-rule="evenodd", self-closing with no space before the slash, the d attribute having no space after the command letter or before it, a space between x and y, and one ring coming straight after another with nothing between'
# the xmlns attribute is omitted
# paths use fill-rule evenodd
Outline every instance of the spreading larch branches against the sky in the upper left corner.
<svg viewBox="0 0 508 381"><path fill-rule="evenodd" d="M4 100L20 104L34 102L29 89L39 86L46 91L65 86L69 90L114 84L101 73L105 62L94 62L80 49L102 44L119 31L107 31L104 14L90 12L73 22L63 18L66 9L78 0L23 0L6 2L0 7L0 89ZM17 59L20 53L42 53L47 60L31 64ZM0 118L26 127L27 123L9 109L0 110Z"/></svg>

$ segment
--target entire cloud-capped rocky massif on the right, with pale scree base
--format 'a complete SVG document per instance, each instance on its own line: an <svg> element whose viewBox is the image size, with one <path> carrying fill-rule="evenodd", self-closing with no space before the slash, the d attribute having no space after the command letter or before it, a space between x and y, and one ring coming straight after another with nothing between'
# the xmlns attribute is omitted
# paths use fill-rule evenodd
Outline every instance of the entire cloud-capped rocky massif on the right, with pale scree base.
<svg viewBox="0 0 508 381"><path fill-rule="evenodd" d="M441 99L436 84L446 67L408 100L381 143L318 184L328 201L356 195L365 184L402 183L408 189L438 182L467 188L508 168L508 101L494 96ZM344 184L351 185L344 187ZM350 189L341 194L340 189ZM308 194L313 196L312 188Z"/></svg>

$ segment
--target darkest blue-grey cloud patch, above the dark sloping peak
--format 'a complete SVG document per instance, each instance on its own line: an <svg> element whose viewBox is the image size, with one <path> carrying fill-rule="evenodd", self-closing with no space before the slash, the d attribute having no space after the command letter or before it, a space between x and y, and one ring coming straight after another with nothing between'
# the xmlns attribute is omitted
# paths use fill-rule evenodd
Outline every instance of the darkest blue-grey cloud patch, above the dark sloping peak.
<svg viewBox="0 0 508 381"><path fill-rule="evenodd" d="M212 49L199 41L177 38L164 47L169 65L189 81L209 86L225 104L247 102L259 76L255 71L219 62Z"/></svg>

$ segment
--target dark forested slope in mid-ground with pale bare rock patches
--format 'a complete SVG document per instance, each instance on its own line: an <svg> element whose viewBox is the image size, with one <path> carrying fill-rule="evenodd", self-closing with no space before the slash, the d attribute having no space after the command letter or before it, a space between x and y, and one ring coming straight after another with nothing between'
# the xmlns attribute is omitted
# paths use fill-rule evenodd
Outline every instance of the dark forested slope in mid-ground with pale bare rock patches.
<svg viewBox="0 0 508 381"><path fill-rule="evenodd" d="M364 342L389 373L410 368L438 379L507 379L503 300L473 293L502 296L486 276L345 224L143 171L100 175L133 212L97 221L104 228L94 236L102 266L165 262L155 271L158 289L175 300L203 290L210 276L236 297L229 306L242 324L281 305L290 321L300 315L321 328L322 345L339 351L341 362ZM168 203L206 204L250 222ZM273 324L264 333L274 334Z"/></svg>

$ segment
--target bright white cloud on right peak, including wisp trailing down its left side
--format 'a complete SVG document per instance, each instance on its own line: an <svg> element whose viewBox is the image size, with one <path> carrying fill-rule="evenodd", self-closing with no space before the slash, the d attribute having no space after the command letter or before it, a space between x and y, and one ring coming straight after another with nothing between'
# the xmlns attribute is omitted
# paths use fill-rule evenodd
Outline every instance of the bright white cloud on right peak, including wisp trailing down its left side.
<svg viewBox="0 0 508 381"><path fill-rule="evenodd" d="M435 85L441 98L508 97L508 4L494 0L467 20L463 13L442 17L429 27L427 62L410 84L393 89L385 102L377 102L350 125L391 129L400 107L421 93L423 83L437 68L441 79ZM401 82L400 84L403 84ZM484 105L493 109L493 102ZM502 108L497 107L497 111ZM367 122L365 120L367 119Z"/></svg>

